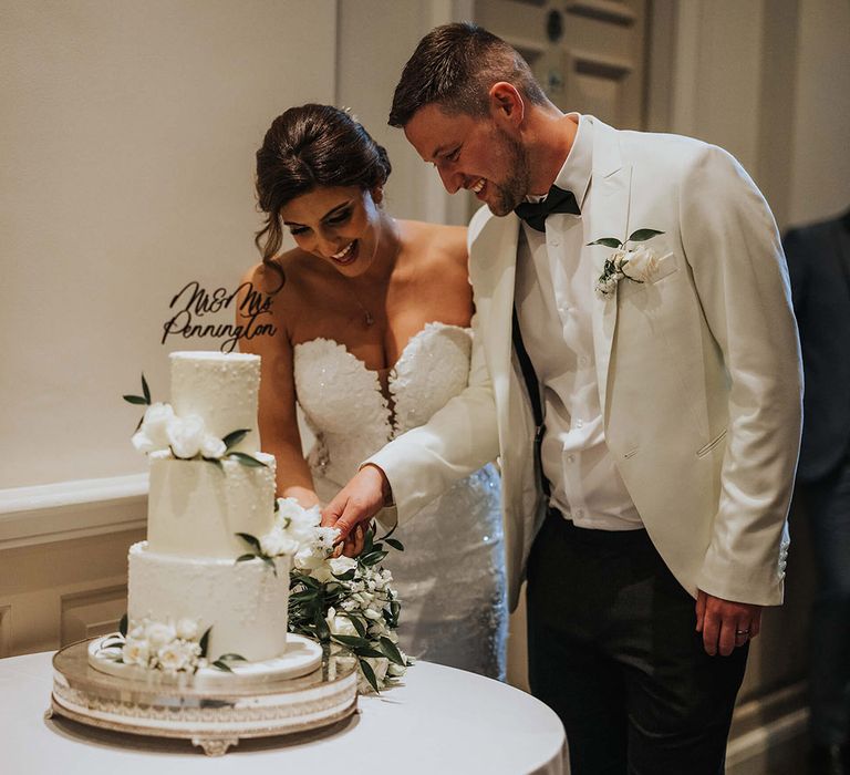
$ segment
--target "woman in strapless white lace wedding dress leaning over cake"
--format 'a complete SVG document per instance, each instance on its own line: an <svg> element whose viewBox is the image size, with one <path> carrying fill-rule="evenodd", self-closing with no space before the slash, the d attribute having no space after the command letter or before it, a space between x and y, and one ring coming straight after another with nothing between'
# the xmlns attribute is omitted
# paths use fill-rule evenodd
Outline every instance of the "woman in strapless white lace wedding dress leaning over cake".
<svg viewBox="0 0 850 775"><path fill-rule="evenodd" d="M326 503L362 461L464 390L473 313L466 229L396 220L383 207L383 147L345 112L292 107L257 152L262 262L245 280L272 294L259 425L278 495ZM298 246L281 254L283 229ZM296 404L315 443L302 455ZM507 608L491 465L457 483L396 537L384 565L402 600L402 648L505 678Z"/></svg>

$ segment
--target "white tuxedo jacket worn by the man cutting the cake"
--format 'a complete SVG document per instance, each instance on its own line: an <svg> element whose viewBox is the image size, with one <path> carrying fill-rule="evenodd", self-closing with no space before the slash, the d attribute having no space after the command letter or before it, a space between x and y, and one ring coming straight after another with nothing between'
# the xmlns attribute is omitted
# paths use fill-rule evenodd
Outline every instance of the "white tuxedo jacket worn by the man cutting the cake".
<svg viewBox="0 0 850 775"><path fill-rule="evenodd" d="M608 446L650 537L688 592L780 603L802 372L773 216L725 151L590 118L583 245L643 228L664 232L644 244L664 257L646 282L621 280L613 297L593 300ZM519 228L515 215L497 218L487 208L473 218L469 385L370 458L386 473L403 523L498 456L511 608L545 514L533 420L511 343ZM611 252L584 247L580 260L598 277Z"/></svg>

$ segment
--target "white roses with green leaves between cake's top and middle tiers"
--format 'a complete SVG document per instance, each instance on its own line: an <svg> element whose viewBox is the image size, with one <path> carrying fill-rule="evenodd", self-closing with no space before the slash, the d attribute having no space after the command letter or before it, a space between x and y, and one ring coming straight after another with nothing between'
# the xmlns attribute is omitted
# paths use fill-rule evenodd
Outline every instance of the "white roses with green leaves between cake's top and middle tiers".
<svg viewBox="0 0 850 775"><path fill-rule="evenodd" d="M214 436L207 431L204 418L197 414L178 417L170 404L152 403L144 374L142 395L125 395L124 401L147 406L132 438L138 452L147 454L167 448L180 459L204 459L219 467L221 459L234 459L247 466L266 466L252 455L232 450L249 433L247 428L236 430L224 438Z"/></svg>

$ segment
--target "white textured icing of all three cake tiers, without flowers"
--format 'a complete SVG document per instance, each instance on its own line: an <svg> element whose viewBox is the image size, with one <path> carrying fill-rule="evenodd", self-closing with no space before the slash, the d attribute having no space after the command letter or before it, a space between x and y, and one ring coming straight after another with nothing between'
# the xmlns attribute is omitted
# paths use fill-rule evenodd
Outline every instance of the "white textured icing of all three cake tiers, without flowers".
<svg viewBox="0 0 850 775"><path fill-rule="evenodd" d="M175 414L198 415L220 438L250 430L231 448L266 465L149 454L148 540L129 550L127 616L199 620L211 628L211 660L272 659L286 649L290 559L274 559L277 575L258 559L236 562L248 550L236 534L262 536L274 521L274 458L257 452L260 359L177 352L170 370Z"/></svg>

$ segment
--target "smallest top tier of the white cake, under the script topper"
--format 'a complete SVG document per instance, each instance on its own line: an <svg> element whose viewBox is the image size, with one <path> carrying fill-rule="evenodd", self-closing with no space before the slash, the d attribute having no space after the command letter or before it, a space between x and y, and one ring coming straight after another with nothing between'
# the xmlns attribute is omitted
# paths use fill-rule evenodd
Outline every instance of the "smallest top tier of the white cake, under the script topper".
<svg viewBox="0 0 850 775"><path fill-rule="evenodd" d="M172 406L179 417L197 414L219 438L241 428L250 433L232 450L253 454L260 448L257 396L260 358L246 353L173 352Z"/></svg>

